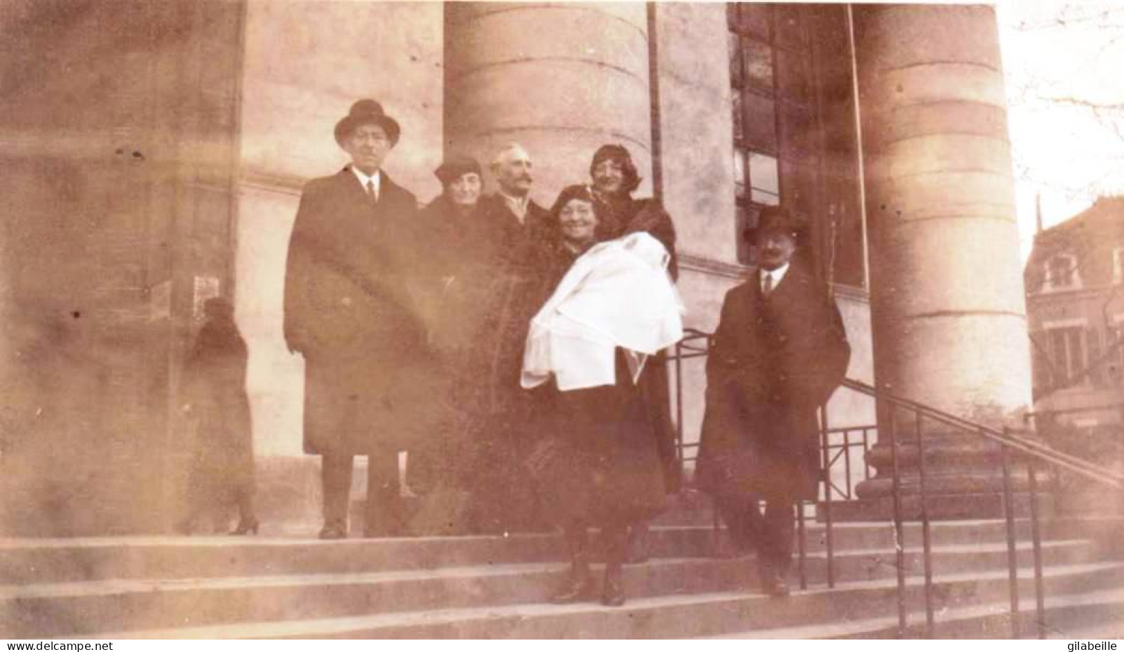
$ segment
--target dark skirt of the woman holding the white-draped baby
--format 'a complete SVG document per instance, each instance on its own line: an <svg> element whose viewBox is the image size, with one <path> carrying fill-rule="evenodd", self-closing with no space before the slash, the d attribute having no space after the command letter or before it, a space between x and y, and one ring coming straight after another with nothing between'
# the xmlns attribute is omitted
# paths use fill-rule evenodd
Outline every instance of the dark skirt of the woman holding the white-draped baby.
<svg viewBox="0 0 1124 652"><path fill-rule="evenodd" d="M527 464L549 517L560 525L606 526L662 511L667 491L656 433L623 354L615 386L552 395L545 436Z"/></svg>

